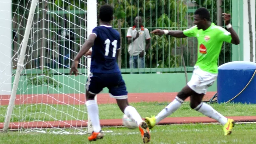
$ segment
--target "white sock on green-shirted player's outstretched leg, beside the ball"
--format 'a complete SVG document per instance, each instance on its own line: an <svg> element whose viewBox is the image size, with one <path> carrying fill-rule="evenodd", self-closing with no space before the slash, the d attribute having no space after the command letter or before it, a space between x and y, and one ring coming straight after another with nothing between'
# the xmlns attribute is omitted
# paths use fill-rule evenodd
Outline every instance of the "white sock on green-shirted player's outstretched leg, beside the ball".
<svg viewBox="0 0 256 144"><path fill-rule="evenodd" d="M156 124L158 124L162 119L171 115L175 112L184 101L177 96L169 105L167 105L157 116L156 116Z"/></svg>

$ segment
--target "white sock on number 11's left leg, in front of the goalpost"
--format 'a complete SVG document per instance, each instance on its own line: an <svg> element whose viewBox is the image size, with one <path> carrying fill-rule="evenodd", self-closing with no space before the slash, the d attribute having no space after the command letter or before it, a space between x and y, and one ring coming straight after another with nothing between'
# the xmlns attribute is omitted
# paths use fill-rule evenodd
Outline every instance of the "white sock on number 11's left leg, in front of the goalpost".
<svg viewBox="0 0 256 144"><path fill-rule="evenodd" d="M99 118L99 108L95 100L86 101L86 107L93 125L94 132L100 132L100 118Z"/></svg>

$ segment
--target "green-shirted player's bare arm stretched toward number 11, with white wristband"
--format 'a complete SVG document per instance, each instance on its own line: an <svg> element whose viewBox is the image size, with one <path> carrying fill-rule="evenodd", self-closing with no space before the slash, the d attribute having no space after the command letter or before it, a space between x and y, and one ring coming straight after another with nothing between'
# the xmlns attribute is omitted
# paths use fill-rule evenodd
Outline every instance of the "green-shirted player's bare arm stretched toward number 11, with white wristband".
<svg viewBox="0 0 256 144"><path fill-rule="evenodd" d="M161 29L155 29L153 31L151 31L151 33L156 34L156 35L170 35L173 36L175 38L187 38L187 36L184 35L183 31L181 30L161 30Z"/></svg>

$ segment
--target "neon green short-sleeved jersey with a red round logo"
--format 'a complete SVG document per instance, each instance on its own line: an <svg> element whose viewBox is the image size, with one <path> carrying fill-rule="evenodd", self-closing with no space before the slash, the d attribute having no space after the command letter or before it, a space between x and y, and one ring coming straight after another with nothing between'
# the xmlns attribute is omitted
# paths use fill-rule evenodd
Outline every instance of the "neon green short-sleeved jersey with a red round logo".
<svg viewBox="0 0 256 144"><path fill-rule="evenodd" d="M197 61L201 70L218 73L218 57L223 42L231 42L230 33L222 27L211 24L206 30L197 29L197 26L183 31L187 37L196 37L198 41Z"/></svg>

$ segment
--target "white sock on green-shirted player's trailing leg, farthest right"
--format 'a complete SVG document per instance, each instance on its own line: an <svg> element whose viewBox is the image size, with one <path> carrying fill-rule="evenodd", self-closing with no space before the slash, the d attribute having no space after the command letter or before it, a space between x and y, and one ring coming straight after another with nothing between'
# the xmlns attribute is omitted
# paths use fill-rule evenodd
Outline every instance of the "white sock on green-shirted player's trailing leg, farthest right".
<svg viewBox="0 0 256 144"><path fill-rule="evenodd" d="M228 122L227 117L222 116L220 113L218 113L215 109L213 109L210 105L207 105L206 103L201 103L200 105L197 105L197 107L194 109L204 114L205 116L217 120L222 125L225 125Z"/></svg>

